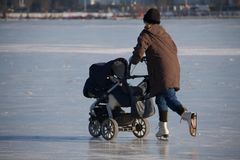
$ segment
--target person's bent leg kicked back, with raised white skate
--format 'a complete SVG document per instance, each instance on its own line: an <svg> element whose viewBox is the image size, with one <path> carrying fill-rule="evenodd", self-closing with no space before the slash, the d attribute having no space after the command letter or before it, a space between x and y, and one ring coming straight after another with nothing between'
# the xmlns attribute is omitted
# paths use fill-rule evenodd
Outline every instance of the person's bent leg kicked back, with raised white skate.
<svg viewBox="0 0 240 160"><path fill-rule="evenodd" d="M188 112L186 108L183 107L180 101L178 101L176 92L174 89L167 89L164 92L164 97L168 107L177 112L183 120L188 122L189 132L191 136L196 136L197 130L197 114L193 112Z"/></svg>

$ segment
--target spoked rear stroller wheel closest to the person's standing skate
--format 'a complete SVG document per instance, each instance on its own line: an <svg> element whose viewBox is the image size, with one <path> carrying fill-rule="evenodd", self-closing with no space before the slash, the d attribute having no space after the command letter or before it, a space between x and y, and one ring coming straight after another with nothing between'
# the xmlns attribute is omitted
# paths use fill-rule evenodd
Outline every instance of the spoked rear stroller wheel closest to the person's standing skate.
<svg viewBox="0 0 240 160"><path fill-rule="evenodd" d="M137 138L144 138L150 131L150 124L147 119L139 118L133 121L133 134Z"/></svg>

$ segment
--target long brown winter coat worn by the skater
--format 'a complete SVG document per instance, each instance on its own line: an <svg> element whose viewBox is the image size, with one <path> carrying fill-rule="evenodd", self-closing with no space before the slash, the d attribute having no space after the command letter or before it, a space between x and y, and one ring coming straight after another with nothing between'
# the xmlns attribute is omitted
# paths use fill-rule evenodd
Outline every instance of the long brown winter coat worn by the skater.
<svg viewBox="0 0 240 160"><path fill-rule="evenodd" d="M179 90L177 47L162 26L154 24L140 33L131 62L137 64L144 53L147 58L150 95L155 96L168 88Z"/></svg>

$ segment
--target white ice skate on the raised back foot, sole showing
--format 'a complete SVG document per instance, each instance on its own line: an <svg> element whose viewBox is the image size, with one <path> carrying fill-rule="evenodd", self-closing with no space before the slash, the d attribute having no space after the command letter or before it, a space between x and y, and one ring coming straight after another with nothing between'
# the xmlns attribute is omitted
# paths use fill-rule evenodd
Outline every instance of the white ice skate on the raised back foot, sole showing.
<svg viewBox="0 0 240 160"><path fill-rule="evenodd" d="M197 135L197 113L185 111L182 114L182 119L188 122L189 133L195 137Z"/></svg>

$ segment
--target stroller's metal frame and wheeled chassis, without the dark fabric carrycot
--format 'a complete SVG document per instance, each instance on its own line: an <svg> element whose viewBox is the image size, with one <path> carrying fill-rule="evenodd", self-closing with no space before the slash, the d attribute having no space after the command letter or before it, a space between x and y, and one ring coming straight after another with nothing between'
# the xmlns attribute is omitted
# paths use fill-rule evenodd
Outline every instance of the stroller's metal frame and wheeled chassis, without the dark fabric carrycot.
<svg viewBox="0 0 240 160"><path fill-rule="evenodd" d="M129 64L129 70L131 64ZM90 107L90 118L88 130L93 137L102 137L105 140L113 140L117 137L119 131L132 132L137 138L144 138L150 131L150 124L146 118L140 116L133 117L131 113L115 113L115 111L107 105L108 95L118 86L122 86L122 80L115 76L107 77L114 85L107 90L100 98ZM147 75L128 76L128 79L148 78ZM144 82L144 80L142 82ZM141 82L141 83L142 83ZM141 84L140 83L140 84Z"/></svg>

